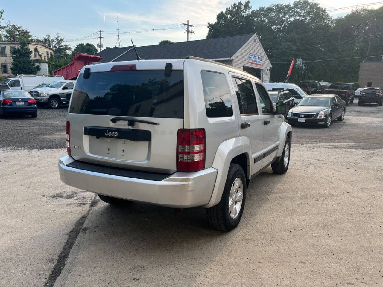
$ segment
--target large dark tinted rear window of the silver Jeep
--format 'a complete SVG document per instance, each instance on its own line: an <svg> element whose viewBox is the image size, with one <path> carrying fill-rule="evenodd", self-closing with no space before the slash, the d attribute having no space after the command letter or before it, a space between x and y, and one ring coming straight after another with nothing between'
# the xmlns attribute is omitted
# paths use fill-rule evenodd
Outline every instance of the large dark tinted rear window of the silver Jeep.
<svg viewBox="0 0 383 287"><path fill-rule="evenodd" d="M183 71L118 71L79 75L70 113L183 118Z"/></svg>

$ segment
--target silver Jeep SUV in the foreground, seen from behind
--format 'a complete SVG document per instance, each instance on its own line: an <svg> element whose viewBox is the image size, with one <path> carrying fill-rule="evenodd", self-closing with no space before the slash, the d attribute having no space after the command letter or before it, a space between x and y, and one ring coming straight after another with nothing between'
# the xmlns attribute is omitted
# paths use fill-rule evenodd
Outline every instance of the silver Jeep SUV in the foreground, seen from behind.
<svg viewBox="0 0 383 287"><path fill-rule="evenodd" d="M88 65L70 99L60 178L110 204L203 206L229 231L250 180L288 169L285 113L258 78L210 60Z"/></svg>

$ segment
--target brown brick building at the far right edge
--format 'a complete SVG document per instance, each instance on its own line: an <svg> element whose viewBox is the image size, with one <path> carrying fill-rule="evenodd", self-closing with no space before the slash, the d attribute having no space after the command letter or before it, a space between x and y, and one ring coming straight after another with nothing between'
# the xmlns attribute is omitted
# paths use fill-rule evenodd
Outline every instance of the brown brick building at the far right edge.
<svg viewBox="0 0 383 287"><path fill-rule="evenodd" d="M383 60L362 61L359 67L359 86L383 87Z"/></svg>

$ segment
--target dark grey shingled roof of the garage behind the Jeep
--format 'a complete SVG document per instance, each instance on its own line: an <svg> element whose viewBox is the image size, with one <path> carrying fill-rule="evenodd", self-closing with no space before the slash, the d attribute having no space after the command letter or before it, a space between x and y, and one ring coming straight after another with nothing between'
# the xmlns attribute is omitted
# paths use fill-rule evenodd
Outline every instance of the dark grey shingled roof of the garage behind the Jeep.
<svg viewBox="0 0 383 287"><path fill-rule="evenodd" d="M188 42L136 47L137 53L144 60L185 59L196 56L205 59L231 58L254 34L211 38ZM136 43L137 44L137 43ZM104 49L96 55L103 57L100 63L110 62L132 46ZM134 49L126 52L115 61L137 60Z"/></svg>

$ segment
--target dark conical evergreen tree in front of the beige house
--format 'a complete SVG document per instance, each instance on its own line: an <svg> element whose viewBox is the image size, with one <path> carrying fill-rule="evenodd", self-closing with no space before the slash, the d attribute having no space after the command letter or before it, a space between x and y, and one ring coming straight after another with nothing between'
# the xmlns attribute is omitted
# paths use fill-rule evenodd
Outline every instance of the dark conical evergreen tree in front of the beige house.
<svg viewBox="0 0 383 287"><path fill-rule="evenodd" d="M40 67L34 65L31 59L32 51L29 50L25 41L20 42L20 47L12 52L11 72L13 75L36 74Z"/></svg>

